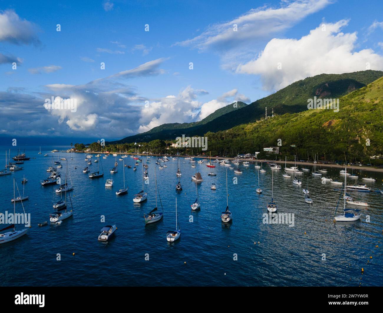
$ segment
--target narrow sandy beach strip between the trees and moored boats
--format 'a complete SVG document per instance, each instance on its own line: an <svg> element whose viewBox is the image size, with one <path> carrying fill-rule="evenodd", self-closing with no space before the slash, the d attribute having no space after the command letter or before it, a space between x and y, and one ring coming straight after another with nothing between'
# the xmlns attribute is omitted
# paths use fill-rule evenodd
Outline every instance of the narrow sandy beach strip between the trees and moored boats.
<svg viewBox="0 0 383 313"><path fill-rule="evenodd" d="M62 152L66 152L66 151L62 151ZM77 152L79 153L79 152ZM89 154L104 154L104 152L80 152L80 153L89 153ZM110 154L128 154L128 155L135 155L135 156L146 156L146 154L142 154L142 153L125 153L125 152L112 152ZM161 154L162 156L169 156L169 157L178 157L177 154ZM160 156L159 154L148 154L148 156ZM190 156L182 156L180 155L179 157L190 157ZM210 159L210 157L208 156L194 156L196 159ZM215 159L218 159L218 160L225 160L225 159L228 159L228 160L236 160L237 158L236 157L211 157L211 159L215 160ZM255 163L256 160L253 160L253 159L239 159L241 161L247 161L247 162L251 162L251 163ZM267 162L271 162L271 163L278 163L278 164L285 164L285 161L274 161L274 160L258 160L258 162L263 162L263 163L267 163ZM294 164L294 161L286 161L286 164ZM314 162L295 162L296 165L310 165L310 166L314 166ZM318 167L335 167L335 168L338 168L338 169L344 169L344 165L337 165L337 164L321 164L321 163L316 163L316 166ZM348 169L351 169L351 165L347 165L347 168ZM371 167L371 166L367 166L367 165L362 165L362 166L355 166L355 170L365 170L365 171L368 171L368 172L378 172L378 173L383 173L383 168L381 169L378 169L376 167Z"/></svg>

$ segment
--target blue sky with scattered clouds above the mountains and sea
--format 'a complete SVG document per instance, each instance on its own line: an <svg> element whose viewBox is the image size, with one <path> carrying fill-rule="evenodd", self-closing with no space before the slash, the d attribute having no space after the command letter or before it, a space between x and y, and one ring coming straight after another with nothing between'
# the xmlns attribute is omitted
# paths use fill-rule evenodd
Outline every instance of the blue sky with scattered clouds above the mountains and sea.
<svg viewBox="0 0 383 313"><path fill-rule="evenodd" d="M10 138L118 139L307 76L383 70L378 0L1 1L0 10L0 136ZM47 110L52 96L76 99L76 112Z"/></svg>

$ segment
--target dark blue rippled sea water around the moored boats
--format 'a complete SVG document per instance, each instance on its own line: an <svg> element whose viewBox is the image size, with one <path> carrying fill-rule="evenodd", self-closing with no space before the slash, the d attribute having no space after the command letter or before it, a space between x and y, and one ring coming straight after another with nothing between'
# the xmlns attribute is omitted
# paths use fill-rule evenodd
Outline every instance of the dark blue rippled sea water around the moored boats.
<svg viewBox="0 0 383 313"><path fill-rule="evenodd" d="M303 184L297 186L292 179L282 177L283 170L275 170L274 200L278 213L294 214L294 226L264 224L263 214L267 213L266 205L272 193L272 170L266 164L267 172L259 173L263 193L258 195L254 164L240 165L243 174L236 175L218 163L215 169L210 169L196 162L196 170L204 181L197 185L201 209L193 212L190 205L196 198L196 187L191 176L195 169L189 160L180 159L183 190L177 193L177 161L169 158L167 168L159 170L156 157L152 156L148 164L149 184L145 185L148 200L134 204L133 195L142 189L142 168L133 171L133 158L124 159L132 165L132 169L125 168L128 194L116 196L115 192L123 186L123 166L118 157L118 173L109 173L115 162L115 158L109 156L100 159L104 177L89 179L88 174L82 173L87 166L85 154L73 154L71 161L70 154L59 153L59 157L68 159L74 186L70 191L73 216L60 225L48 222L38 227L38 223L49 221L49 213L54 211L52 205L60 198L54 191L56 185L40 185L40 180L49 176L46 169L52 165L52 155L57 160L57 153L50 152L54 148L67 147L42 146L43 154L39 155L39 147L26 146L27 156L36 159L25 161L21 165L24 170L0 176L0 212L13 212L10 201L13 177L21 192L23 175L28 178L25 195L29 195L29 200L23 204L25 211L31 214L32 226L27 235L0 245L2 286L383 285L383 195L380 193L358 193L358 199L370 204L368 208L360 208L361 221L334 224L340 195L340 191L334 191L336 185L322 184L320 177L308 173L300 175ZM8 149L11 156L17 154L15 147L1 146L0 167L5 164ZM44 157L45 153L49 157ZM61 162L60 172L64 178L66 162ZM145 225L143 215L155 207L155 166L164 217L160 222ZM93 164L92 169L96 168L97 164ZM226 208L226 170L229 208L233 214L230 224L220 218ZM211 171L217 176L208 176ZM362 182L361 177L372 176L376 182L367 183L368 187L383 188L382 174L358 169L355 173L360 177L358 182ZM327 176L344 179L339 169L328 168ZM105 188L107 178L114 179L112 188ZM304 202L302 188L306 187L307 180L313 204ZM210 189L213 182L216 191ZM176 198L181 237L168 243L166 232L175 229ZM158 207L161 208L159 199ZM16 212L23 212L21 203L16 203ZM102 215L105 223L100 221ZM366 215L370 216L370 222L366 222ZM115 237L109 242L98 242L100 229L108 224L117 225ZM58 253L60 261L56 259Z"/></svg>

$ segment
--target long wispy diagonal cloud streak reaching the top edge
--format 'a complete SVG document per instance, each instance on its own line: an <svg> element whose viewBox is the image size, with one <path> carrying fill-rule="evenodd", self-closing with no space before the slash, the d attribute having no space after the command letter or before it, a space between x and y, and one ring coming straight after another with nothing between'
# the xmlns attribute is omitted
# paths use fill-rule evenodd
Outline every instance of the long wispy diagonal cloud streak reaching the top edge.
<svg viewBox="0 0 383 313"><path fill-rule="evenodd" d="M238 48L239 45L251 46L259 39L290 28L329 3L331 3L329 0L282 1L278 8L263 6L251 9L231 21L213 24L201 35L177 42L176 45L190 46L199 50L209 48L228 50ZM237 31L234 31L234 25L237 25Z"/></svg>

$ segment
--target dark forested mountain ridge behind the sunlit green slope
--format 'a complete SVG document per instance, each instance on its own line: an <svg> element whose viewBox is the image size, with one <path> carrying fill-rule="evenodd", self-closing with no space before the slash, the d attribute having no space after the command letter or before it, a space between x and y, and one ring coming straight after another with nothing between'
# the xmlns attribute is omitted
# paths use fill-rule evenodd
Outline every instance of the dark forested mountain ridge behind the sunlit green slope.
<svg viewBox="0 0 383 313"><path fill-rule="evenodd" d="M177 136L202 136L208 131L216 132L227 130L237 125L254 122L265 115L265 107L271 115L297 113L307 109L307 99L313 98L340 98L355 91L383 76L383 71L358 71L344 74L321 74L308 77L267 96L252 102L249 105L239 102L239 109L233 105L215 111L200 122L172 123L153 128L146 133L129 136L113 143L132 143L151 141L154 139L173 139Z"/></svg>

